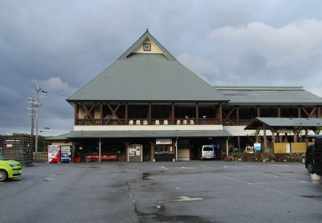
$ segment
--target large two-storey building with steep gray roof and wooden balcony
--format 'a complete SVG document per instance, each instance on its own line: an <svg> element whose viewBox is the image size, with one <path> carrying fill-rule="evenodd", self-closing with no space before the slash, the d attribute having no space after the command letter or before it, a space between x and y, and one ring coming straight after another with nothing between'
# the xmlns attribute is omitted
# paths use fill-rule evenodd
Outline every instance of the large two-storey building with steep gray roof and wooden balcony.
<svg viewBox="0 0 322 223"><path fill-rule="evenodd" d="M209 144L222 159L229 147L250 143L254 130L244 128L254 118L321 118L322 106L302 87L213 87L148 31L67 102L74 130L49 140L72 145L82 161L194 160Z"/></svg>

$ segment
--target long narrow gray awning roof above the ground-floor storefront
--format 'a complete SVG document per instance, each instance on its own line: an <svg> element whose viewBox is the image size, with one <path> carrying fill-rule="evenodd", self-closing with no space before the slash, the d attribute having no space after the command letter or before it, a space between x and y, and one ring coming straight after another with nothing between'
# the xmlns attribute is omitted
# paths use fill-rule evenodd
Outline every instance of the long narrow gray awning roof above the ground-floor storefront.
<svg viewBox="0 0 322 223"><path fill-rule="evenodd" d="M66 138L186 138L232 137L226 130L159 130L159 131L70 131Z"/></svg>

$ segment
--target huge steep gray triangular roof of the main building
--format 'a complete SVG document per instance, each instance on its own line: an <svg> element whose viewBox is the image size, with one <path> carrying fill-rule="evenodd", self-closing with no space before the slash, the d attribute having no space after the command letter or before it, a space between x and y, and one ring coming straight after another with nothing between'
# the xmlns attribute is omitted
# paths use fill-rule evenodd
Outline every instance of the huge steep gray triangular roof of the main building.
<svg viewBox="0 0 322 223"><path fill-rule="evenodd" d="M133 54L149 37L164 53ZM171 56L146 32L68 102L227 102L228 99Z"/></svg>

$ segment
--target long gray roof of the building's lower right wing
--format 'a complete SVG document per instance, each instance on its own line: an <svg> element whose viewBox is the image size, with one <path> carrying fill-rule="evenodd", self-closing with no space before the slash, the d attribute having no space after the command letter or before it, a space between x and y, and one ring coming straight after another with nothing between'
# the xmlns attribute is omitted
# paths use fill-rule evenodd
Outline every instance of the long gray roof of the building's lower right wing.
<svg viewBox="0 0 322 223"><path fill-rule="evenodd" d="M228 104L322 104L322 98L304 90L303 87L215 86L214 88L230 99Z"/></svg>

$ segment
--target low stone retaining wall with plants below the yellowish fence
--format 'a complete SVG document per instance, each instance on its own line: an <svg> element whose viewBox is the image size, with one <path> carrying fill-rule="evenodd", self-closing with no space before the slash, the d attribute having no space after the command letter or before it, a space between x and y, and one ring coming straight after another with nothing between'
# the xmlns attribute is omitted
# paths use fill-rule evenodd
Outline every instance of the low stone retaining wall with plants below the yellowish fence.
<svg viewBox="0 0 322 223"><path fill-rule="evenodd" d="M303 153L245 153L242 162L302 162Z"/></svg>

